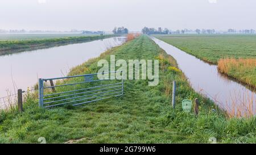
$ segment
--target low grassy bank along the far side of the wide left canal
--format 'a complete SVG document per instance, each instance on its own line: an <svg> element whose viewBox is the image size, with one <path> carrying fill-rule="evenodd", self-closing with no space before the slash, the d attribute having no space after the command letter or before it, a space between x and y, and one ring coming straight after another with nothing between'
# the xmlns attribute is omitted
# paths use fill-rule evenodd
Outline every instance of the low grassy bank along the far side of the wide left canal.
<svg viewBox="0 0 256 155"><path fill-rule="evenodd" d="M104 36L73 36L73 37L59 37L59 38L43 38L31 40L3 40L0 41L0 56L11 53L31 51L35 49L55 47L59 45L82 43L85 41L92 41L97 39L104 39L113 37L114 35Z"/></svg>

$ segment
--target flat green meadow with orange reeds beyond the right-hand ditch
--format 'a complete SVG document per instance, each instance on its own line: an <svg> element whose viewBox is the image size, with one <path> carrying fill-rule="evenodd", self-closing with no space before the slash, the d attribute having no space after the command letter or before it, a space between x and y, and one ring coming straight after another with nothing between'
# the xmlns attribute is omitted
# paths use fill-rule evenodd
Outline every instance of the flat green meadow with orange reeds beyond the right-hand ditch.
<svg viewBox="0 0 256 155"><path fill-rule="evenodd" d="M218 65L221 73L256 88L256 35L158 35L158 39Z"/></svg>

